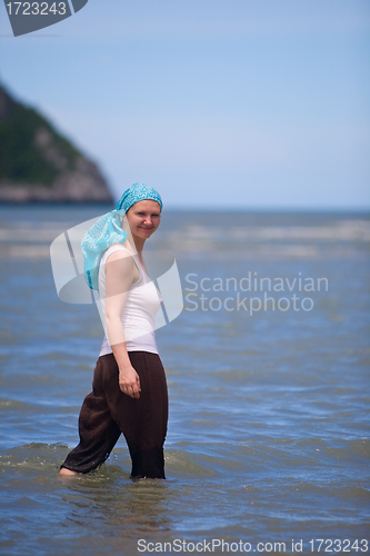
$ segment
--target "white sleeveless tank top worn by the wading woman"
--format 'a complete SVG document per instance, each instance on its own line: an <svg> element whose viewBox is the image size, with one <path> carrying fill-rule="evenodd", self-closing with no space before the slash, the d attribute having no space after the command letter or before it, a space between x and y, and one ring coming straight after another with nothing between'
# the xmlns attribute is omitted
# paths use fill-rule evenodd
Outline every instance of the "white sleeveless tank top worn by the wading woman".
<svg viewBox="0 0 370 556"><path fill-rule="evenodd" d="M124 249L133 257L129 249L119 245L110 247L102 256L99 268L99 304L103 317L106 315L106 262L108 257L119 249ZM154 336L154 319L161 307L162 299L154 282L146 275L141 265L136 260L136 257L133 257L133 260L139 269L140 278L137 282L132 284L121 315L126 347L128 351L149 351L151 354L158 354ZM106 334L100 356L112 353L108 340L106 321L104 319L102 320Z"/></svg>

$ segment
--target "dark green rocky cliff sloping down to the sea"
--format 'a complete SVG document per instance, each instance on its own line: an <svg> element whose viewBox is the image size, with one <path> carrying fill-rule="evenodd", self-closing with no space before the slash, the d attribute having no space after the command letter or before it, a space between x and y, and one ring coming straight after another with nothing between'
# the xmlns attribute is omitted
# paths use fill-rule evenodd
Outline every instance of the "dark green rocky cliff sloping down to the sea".
<svg viewBox="0 0 370 556"><path fill-rule="evenodd" d="M0 201L112 202L98 167L1 86Z"/></svg>

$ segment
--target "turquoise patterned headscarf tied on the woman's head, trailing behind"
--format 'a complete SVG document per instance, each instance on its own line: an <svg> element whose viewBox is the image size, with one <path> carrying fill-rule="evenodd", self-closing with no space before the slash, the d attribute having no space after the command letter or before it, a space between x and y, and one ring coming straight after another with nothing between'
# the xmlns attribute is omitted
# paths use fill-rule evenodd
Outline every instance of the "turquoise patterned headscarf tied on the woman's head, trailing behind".
<svg viewBox="0 0 370 556"><path fill-rule="evenodd" d="M99 265L103 252L113 244L123 244L127 232L121 228L123 216L132 205L143 200L157 201L162 210L162 199L156 189L144 183L133 183L124 191L116 210L102 216L87 231L82 241L84 279L91 289L99 291Z"/></svg>

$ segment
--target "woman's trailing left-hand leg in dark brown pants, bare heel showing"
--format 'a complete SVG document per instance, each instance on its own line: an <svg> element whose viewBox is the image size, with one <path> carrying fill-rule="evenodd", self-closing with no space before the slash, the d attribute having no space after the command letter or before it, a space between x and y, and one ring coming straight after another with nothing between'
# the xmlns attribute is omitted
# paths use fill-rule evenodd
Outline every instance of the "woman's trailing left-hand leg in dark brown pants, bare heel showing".
<svg viewBox="0 0 370 556"><path fill-rule="evenodd" d="M69 453L61 466L62 475L89 473L108 458L120 437L120 429L112 419L103 391L102 356L98 359L92 393L82 404L79 418L80 444Z"/></svg>

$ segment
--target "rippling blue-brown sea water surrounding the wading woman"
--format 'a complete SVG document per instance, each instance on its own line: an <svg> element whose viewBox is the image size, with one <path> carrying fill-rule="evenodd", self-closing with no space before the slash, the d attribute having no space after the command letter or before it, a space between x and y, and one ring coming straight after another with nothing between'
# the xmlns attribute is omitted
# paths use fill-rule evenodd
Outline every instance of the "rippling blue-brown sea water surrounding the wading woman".
<svg viewBox="0 0 370 556"><path fill-rule="evenodd" d="M131 480L122 438L60 478L102 325L58 298L49 249L108 210L0 208L1 555L367 553L370 216L164 210L167 480Z"/></svg>

